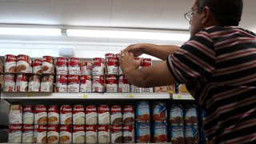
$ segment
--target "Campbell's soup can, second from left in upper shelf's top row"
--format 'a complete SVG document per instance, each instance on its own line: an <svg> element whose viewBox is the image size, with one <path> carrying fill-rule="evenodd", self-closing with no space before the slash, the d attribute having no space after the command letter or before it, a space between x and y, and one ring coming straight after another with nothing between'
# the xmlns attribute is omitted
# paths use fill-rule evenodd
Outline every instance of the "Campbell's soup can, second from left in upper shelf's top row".
<svg viewBox="0 0 256 144"><path fill-rule="evenodd" d="M30 56L18 54L16 72L29 73L30 72Z"/></svg>

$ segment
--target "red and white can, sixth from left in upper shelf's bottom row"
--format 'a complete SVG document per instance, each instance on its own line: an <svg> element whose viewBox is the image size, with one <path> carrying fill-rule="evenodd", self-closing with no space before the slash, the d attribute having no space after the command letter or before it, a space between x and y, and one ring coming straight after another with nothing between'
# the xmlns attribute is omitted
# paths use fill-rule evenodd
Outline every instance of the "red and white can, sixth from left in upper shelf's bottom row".
<svg viewBox="0 0 256 144"><path fill-rule="evenodd" d="M69 75L68 78L67 91L69 93L78 93L80 85L80 76L79 75Z"/></svg>

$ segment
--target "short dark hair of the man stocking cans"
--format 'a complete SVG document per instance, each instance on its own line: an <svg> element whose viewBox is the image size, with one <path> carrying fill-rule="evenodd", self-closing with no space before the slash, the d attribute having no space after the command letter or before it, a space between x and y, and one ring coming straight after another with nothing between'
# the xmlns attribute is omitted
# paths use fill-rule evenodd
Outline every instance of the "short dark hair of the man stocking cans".
<svg viewBox="0 0 256 144"><path fill-rule="evenodd" d="M238 26L242 17L242 0L196 0L198 13L208 6L214 13L219 26Z"/></svg>

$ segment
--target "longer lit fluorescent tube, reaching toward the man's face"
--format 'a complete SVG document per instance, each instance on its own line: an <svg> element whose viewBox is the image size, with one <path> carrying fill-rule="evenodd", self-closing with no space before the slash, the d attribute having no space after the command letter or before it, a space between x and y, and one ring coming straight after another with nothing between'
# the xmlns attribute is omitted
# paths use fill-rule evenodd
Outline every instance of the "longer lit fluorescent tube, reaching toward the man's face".
<svg viewBox="0 0 256 144"><path fill-rule="evenodd" d="M68 36L77 37L94 37L94 38L133 38L133 39L152 39L152 40L172 40L172 41L187 41L190 34L178 33L177 31L152 31L152 30L66 30Z"/></svg>

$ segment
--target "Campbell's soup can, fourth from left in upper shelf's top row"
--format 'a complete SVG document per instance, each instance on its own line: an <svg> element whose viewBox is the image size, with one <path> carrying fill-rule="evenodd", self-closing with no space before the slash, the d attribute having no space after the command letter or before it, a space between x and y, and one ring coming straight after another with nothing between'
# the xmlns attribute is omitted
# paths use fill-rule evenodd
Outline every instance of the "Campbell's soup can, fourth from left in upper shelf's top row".
<svg viewBox="0 0 256 144"><path fill-rule="evenodd" d="M51 56L42 57L42 74L54 74L54 58Z"/></svg>

